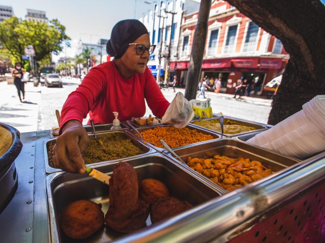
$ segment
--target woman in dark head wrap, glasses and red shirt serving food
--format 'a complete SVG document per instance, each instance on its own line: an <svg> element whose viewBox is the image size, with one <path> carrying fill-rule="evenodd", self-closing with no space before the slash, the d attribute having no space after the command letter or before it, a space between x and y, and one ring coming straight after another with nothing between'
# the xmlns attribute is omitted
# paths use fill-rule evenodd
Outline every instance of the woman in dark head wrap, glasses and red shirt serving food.
<svg viewBox="0 0 325 243"><path fill-rule="evenodd" d="M83 155L89 139L82 121L88 112L95 123L112 122L113 111L126 121L145 114L146 99L153 115L164 115L169 102L147 67L154 49L140 21L122 20L113 27L106 50L114 60L93 67L63 105L54 148L57 168L85 173Z"/></svg>

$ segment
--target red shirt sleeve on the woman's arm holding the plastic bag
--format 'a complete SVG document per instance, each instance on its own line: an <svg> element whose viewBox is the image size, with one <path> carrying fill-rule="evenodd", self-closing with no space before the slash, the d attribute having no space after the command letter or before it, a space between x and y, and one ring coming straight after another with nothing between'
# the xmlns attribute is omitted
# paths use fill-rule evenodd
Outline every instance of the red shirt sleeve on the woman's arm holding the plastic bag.
<svg viewBox="0 0 325 243"><path fill-rule="evenodd" d="M157 85L152 73L149 71L149 68L146 68L145 73L146 83L144 87L144 95L148 106L154 116L162 117L165 114L170 103L162 95L162 92Z"/></svg>

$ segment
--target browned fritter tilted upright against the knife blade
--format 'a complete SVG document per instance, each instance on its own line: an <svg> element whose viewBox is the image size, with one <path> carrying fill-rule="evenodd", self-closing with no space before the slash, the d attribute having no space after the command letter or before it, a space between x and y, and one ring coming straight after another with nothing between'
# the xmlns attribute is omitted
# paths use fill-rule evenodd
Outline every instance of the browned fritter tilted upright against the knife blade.
<svg viewBox="0 0 325 243"><path fill-rule="evenodd" d="M138 177L136 170L126 162L114 166L110 178L110 208L117 219L123 219L136 208Z"/></svg>

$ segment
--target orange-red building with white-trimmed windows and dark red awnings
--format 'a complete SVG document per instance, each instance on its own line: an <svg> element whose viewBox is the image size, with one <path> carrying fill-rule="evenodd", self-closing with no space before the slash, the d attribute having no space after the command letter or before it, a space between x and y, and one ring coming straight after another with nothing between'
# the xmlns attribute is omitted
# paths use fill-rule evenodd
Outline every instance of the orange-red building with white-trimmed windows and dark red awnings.
<svg viewBox="0 0 325 243"><path fill-rule="evenodd" d="M186 85L188 63L198 11L185 14L170 69ZM175 52L175 50L174 50ZM238 79L247 79L255 94L266 95L264 85L280 75L289 59L280 40L257 26L235 7L214 0L210 9L201 79L221 78L220 92L234 93ZM184 77L182 79L182 77Z"/></svg>

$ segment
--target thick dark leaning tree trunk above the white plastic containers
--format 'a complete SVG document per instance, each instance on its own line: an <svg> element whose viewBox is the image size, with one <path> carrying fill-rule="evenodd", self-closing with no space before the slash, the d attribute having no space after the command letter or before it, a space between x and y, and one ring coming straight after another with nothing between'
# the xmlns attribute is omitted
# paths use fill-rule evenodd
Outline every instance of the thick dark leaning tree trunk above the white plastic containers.
<svg viewBox="0 0 325 243"><path fill-rule="evenodd" d="M282 41L290 54L268 123L275 125L325 94L325 6L319 0L227 0Z"/></svg>

